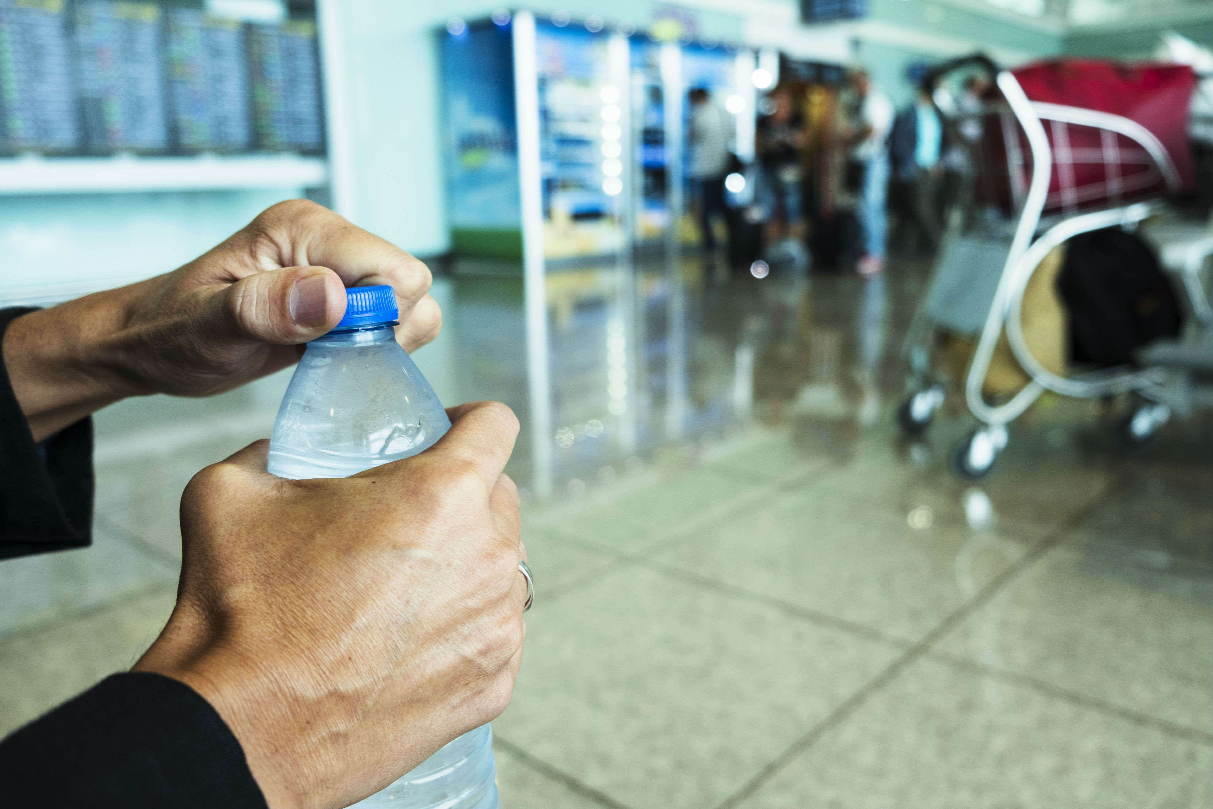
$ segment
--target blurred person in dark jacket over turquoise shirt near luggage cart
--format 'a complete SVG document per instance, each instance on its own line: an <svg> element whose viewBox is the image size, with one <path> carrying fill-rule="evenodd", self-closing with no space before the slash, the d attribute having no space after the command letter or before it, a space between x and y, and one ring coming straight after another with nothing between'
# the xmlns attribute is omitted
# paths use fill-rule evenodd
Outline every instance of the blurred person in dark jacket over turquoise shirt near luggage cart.
<svg viewBox="0 0 1213 809"><path fill-rule="evenodd" d="M917 230L921 252L933 255L943 237L944 118L935 107L934 86L918 87L913 102L893 123L889 148L901 188L902 218Z"/></svg>

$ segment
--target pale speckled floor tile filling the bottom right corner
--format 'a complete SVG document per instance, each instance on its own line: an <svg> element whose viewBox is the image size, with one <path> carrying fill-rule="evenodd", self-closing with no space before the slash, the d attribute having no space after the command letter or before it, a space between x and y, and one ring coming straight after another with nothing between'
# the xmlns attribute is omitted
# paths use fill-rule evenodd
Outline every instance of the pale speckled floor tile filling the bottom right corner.
<svg viewBox="0 0 1213 809"><path fill-rule="evenodd" d="M739 809L1197 809L1213 747L919 660Z"/></svg>

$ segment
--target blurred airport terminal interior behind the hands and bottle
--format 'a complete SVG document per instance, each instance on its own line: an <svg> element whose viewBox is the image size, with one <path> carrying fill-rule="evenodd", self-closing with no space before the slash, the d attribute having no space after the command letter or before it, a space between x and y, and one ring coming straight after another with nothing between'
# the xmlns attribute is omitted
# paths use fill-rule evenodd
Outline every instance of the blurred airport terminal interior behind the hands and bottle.
<svg viewBox="0 0 1213 809"><path fill-rule="evenodd" d="M11 67L58 32L126 82ZM0 306L297 196L425 260L417 365L522 425L506 809L1211 807L1211 49L1203 0L0 0ZM0 735L155 638L290 375L93 416L92 545L0 562Z"/></svg>

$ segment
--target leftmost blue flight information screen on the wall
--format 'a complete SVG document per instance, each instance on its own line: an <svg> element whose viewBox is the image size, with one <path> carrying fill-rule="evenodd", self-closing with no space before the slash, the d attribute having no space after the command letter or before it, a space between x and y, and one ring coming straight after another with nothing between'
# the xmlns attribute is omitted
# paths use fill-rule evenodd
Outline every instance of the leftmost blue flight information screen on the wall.
<svg viewBox="0 0 1213 809"><path fill-rule="evenodd" d="M0 0L0 152L79 146L63 0Z"/></svg>

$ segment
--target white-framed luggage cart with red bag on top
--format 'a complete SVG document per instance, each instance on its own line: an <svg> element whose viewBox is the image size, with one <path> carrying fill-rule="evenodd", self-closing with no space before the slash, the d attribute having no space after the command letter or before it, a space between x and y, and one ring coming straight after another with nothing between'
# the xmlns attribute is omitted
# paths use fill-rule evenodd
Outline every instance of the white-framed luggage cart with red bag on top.
<svg viewBox="0 0 1213 809"><path fill-rule="evenodd" d="M970 131L972 123L979 125L959 196L972 204L952 211L906 336L910 375L896 412L902 431L924 431L945 401L946 381L932 357L940 330L976 341L963 392L980 425L951 456L953 472L966 479L990 472L1007 446L1007 426L1044 391L1077 398L1137 392L1143 403L1122 426L1129 444L1149 441L1172 414L1213 404L1196 383L1213 363L1213 354L1206 357L1213 351L1213 315L1200 278L1213 255L1207 228L1188 233L1181 245L1161 245L1164 267L1178 275L1173 286L1195 323L1186 340L1145 352L1137 365L1063 376L1030 351L1023 317L1029 280L1050 250L1090 230L1134 229L1190 189L1191 68L1069 59L1000 70L975 56L941 65L932 79L953 70L981 70L993 81L979 110L950 116L953 131L964 120ZM1177 257L1167 261L1169 255ZM983 387L1003 335L1029 381L1013 395L990 401Z"/></svg>

